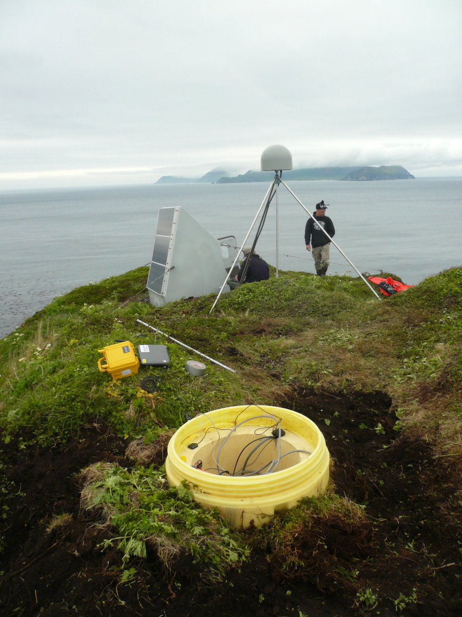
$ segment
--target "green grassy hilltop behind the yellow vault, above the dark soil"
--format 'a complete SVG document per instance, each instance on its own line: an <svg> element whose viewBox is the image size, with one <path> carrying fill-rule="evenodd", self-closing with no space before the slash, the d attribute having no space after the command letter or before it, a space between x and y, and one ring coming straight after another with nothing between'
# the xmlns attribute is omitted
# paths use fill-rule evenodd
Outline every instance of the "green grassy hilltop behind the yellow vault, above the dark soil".
<svg viewBox="0 0 462 617"><path fill-rule="evenodd" d="M167 344L172 363L155 414L173 429L185 411L277 403L296 385L383 389L410 420L419 392L460 386L460 268L380 300L359 278L281 273L225 294L211 315L214 296L152 307L147 270L75 289L0 341L0 426L7 435L27 428L41 443L65 440L96 417L130 437L152 432L152 400L139 397L142 374L113 386L97 370L98 350L116 339ZM185 362L199 357L137 318L237 373L208 364L204 378L191 378ZM453 408L451 397L445 405Z"/></svg>

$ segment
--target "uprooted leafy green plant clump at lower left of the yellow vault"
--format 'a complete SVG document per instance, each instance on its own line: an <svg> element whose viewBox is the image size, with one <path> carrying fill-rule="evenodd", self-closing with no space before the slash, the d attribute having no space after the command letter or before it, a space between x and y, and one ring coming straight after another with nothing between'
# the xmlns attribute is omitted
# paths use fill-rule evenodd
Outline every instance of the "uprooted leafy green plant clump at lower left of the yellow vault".
<svg viewBox="0 0 462 617"><path fill-rule="evenodd" d="M128 471L99 465L88 468L84 477L83 502L89 509L102 510L117 532L103 548L116 545L124 563L146 557L149 546L169 569L185 552L201 563L207 578L219 580L248 555L246 545L217 511L193 502L185 482L169 487L161 471L144 467Z"/></svg>

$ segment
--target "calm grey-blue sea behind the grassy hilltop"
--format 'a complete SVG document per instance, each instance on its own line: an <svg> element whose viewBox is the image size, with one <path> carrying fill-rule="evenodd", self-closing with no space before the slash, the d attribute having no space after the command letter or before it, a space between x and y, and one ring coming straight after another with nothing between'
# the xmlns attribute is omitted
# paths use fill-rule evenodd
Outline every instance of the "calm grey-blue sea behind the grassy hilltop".
<svg viewBox="0 0 462 617"><path fill-rule="evenodd" d="M389 271L417 284L462 262L462 178L288 186L310 212L321 199L330 204L334 241L361 272ZM161 207L182 206L213 236L233 235L240 246L268 188L154 184L0 192L0 337L54 297L149 263ZM304 244L306 220L301 205L280 186L257 252L280 270L313 273ZM334 246L328 273L356 276Z"/></svg>

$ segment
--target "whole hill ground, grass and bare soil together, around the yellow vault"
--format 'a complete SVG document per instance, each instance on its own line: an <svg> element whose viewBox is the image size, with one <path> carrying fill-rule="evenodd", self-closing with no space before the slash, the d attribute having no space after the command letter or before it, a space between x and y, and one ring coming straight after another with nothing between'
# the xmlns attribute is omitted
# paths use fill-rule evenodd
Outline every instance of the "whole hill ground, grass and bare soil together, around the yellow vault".
<svg viewBox="0 0 462 617"><path fill-rule="evenodd" d="M213 296L152 307L146 278L76 289L0 342L4 614L460 613L460 268L380 300L359 278L282 273L211 315ZM138 318L237 372L192 378L200 358ZM166 344L171 365L113 382L97 350L116 340ZM186 413L246 403L318 424L330 492L245 533L187 493L153 505L142 487Z"/></svg>

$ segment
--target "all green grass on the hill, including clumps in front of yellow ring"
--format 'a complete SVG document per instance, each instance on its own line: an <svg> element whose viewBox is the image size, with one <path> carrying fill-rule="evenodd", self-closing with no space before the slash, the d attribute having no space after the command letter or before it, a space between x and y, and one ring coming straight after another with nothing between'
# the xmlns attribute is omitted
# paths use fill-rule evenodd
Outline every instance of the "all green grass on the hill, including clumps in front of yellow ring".
<svg viewBox="0 0 462 617"><path fill-rule="evenodd" d="M211 315L213 295L152 307L144 290L147 271L138 268L75 289L0 341L4 441L19 437L22 448L65 444L97 422L127 442L141 437L152 442L179 428L187 415L248 403L284 407L298 387L346 394L379 390L393 400L400 430L424 436L434 455L450 457L453 473L460 473L460 268L380 299L359 278L280 273L225 294ZM237 372L206 362L205 376L193 378L185 363L202 358L137 318ZM171 365L163 373L142 369L114 382L98 370L97 360L99 349L116 339L134 346L166 344ZM140 388L145 375L160 376L152 395ZM105 511L116 529L113 542L127 558L143 554L147 546L159 555L176 554L183 542L190 558L206 564L211 578L245 558L246 547L235 545L235 536L216 513L191 502L185 487L160 484L159 471L135 466L132 471L111 468L89 489L87 505ZM162 508L167 508L167 522ZM358 508L328 495L291 510L282 523L278 518L261 532L286 571L298 568L290 550L294 529L307 532L310 516L325 520L332 513L362 529ZM163 544L153 540L158 533ZM353 576L344 564L326 563L343 572L335 580ZM366 600L359 600L363 604L370 597L365 594ZM397 602L401 607L411 600Z"/></svg>

